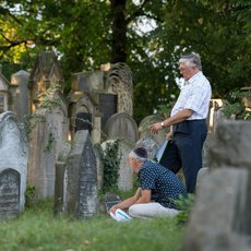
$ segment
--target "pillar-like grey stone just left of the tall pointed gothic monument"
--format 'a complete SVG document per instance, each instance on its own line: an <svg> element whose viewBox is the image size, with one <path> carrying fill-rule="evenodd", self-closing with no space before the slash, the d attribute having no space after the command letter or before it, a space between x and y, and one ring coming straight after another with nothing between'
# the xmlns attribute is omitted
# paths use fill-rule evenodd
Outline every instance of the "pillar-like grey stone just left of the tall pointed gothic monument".
<svg viewBox="0 0 251 251"><path fill-rule="evenodd" d="M19 71L11 75L11 100L13 110L20 121L29 113L28 110L28 79L29 73Z"/></svg>

